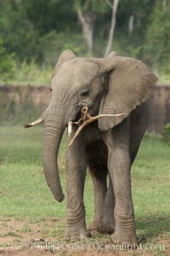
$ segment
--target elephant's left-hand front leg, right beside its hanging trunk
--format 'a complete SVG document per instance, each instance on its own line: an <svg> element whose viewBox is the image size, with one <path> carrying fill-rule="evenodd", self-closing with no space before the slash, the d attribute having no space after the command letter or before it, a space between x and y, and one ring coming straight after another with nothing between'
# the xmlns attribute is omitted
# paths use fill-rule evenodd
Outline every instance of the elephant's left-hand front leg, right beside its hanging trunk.
<svg viewBox="0 0 170 256"><path fill-rule="evenodd" d="M90 236L86 228L85 207L83 203L84 182L87 160L79 138L66 155L67 210L66 240L77 240Z"/></svg>

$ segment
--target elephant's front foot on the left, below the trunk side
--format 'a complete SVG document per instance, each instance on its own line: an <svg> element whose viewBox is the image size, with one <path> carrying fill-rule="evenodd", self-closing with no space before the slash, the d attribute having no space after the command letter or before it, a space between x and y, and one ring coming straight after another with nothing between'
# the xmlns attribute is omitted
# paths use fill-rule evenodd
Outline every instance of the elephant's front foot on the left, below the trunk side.
<svg viewBox="0 0 170 256"><path fill-rule="evenodd" d="M86 237L91 237L91 232L88 230L79 229L65 231L65 241L77 241L82 240Z"/></svg>

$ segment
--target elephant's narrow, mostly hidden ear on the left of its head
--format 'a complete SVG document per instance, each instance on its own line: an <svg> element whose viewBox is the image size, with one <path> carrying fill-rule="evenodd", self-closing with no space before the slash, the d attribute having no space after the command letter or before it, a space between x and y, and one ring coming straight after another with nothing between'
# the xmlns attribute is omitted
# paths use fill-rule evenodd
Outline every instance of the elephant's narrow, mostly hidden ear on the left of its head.
<svg viewBox="0 0 170 256"><path fill-rule="evenodd" d="M54 76L56 73L58 73L59 67L65 62L69 61L71 59L76 58L77 56L70 50L70 49L65 49L62 54L59 56L59 60L57 61L55 67L54 67L54 72L52 73L52 80L54 79Z"/></svg>

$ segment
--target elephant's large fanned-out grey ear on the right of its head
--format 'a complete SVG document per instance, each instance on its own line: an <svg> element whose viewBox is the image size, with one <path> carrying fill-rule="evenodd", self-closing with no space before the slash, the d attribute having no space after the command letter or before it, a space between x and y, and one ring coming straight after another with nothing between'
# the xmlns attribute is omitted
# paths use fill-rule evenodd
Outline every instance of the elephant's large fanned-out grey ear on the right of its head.
<svg viewBox="0 0 170 256"><path fill-rule="evenodd" d="M99 114L124 113L122 116L99 119L99 130L118 125L150 96L156 76L142 61L130 57L109 55L99 59L99 73L108 73L107 91L100 102Z"/></svg>

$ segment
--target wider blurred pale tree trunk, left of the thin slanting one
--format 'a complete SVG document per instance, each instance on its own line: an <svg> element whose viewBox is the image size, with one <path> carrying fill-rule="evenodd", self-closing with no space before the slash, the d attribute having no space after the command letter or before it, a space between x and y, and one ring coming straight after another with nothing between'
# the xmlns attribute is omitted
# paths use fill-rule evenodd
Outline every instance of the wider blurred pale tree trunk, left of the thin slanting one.
<svg viewBox="0 0 170 256"><path fill-rule="evenodd" d="M94 15L90 12L82 15L82 9L79 7L77 7L77 15L82 24L82 35L87 42L88 55L92 55L94 41Z"/></svg>

